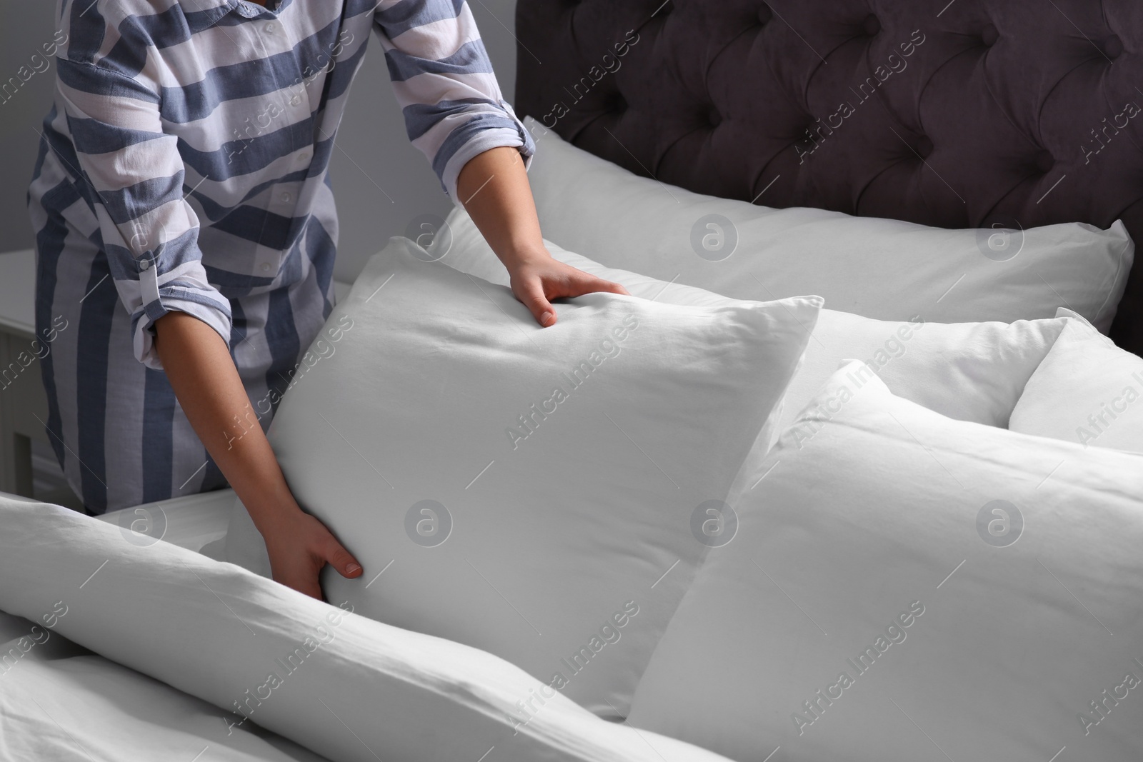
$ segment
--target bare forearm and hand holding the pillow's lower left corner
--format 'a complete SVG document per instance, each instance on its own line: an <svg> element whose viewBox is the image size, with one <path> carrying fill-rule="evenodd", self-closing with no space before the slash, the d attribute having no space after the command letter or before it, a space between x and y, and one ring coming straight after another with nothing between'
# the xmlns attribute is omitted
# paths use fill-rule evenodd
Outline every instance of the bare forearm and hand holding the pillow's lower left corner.
<svg viewBox="0 0 1143 762"><path fill-rule="evenodd" d="M274 580L321 599L318 572L327 563L360 577L361 564L290 494L218 332L185 312L168 312L154 328L175 395L265 539Z"/></svg>

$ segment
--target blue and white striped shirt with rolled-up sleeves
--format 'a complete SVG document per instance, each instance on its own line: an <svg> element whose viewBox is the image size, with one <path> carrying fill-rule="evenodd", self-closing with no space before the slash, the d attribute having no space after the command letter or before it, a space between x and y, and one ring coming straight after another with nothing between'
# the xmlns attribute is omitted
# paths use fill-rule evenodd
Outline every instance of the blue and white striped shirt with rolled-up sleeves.
<svg viewBox="0 0 1143 762"><path fill-rule="evenodd" d="M334 136L370 32L408 138L454 203L464 163L531 137L464 0L58 0L29 209L45 422L103 513L225 486L154 352L190 313L265 428L333 308Z"/></svg>

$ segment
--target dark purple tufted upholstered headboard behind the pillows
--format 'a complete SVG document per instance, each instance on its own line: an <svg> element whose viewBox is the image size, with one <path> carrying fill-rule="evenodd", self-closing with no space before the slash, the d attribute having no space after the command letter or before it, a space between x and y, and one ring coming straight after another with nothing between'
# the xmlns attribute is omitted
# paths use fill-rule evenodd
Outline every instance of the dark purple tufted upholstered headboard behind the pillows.
<svg viewBox="0 0 1143 762"><path fill-rule="evenodd" d="M515 29L517 111L565 104L557 133L640 175L943 227L1122 219L1143 242L1138 0L519 0ZM1143 354L1143 266L1111 336Z"/></svg>

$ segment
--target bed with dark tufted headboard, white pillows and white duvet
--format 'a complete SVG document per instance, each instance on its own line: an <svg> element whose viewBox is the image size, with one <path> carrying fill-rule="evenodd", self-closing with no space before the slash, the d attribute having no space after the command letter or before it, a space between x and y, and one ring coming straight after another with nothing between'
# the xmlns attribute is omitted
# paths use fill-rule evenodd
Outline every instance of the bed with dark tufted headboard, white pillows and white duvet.
<svg viewBox="0 0 1143 762"><path fill-rule="evenodd" d="M521 0L549 249L632 296L523 330L462 209L370 260L270 431L327 602L230 490L0 496L0 759L1140 759L1140 29Z"/></svg>

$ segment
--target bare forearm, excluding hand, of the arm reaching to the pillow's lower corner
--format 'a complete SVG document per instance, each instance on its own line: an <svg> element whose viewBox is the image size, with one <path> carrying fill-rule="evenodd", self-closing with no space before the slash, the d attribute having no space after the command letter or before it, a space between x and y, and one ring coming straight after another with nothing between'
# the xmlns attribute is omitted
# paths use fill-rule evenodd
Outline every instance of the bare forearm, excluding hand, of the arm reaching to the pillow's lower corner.
<svg viewBox="0 0 1143 762"><path fill-rule="evenodd" d="M299 511L266 441L230 350L208 324L184 312L155 321L155 351L178 403L218 468L266 535Z"/></svg>

